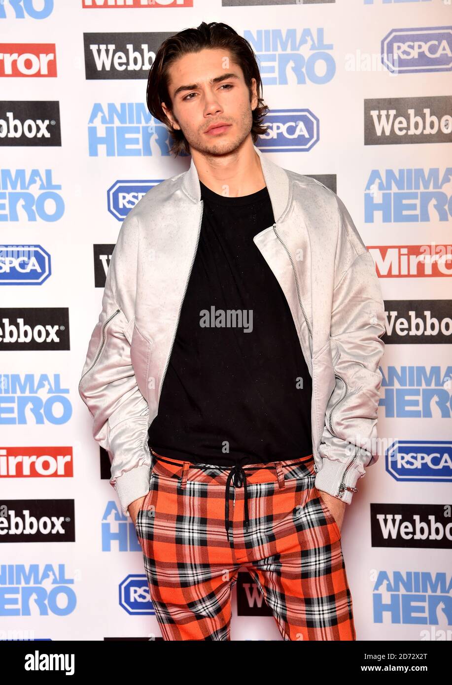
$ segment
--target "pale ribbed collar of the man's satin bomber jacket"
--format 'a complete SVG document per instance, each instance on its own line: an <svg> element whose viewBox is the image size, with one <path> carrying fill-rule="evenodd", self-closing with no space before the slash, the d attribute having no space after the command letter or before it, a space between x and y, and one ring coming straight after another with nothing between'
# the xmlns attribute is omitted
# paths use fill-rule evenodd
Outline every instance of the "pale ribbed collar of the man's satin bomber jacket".
<svg viewBox="0 0 452 685"><path fill-rule="evenodd" d="M286 169L283 169L279 164L271 162L271 160L268 159L268 155L262 154L262 151L260 151L258 147L253 145L253 149L260 157L262 174L264 175L265 184L273 208L273 216L275 217L275 221L279 221L289 200L288 174ZM182 175L182 187L192 201L198 203L201 201L201 186L199 185L199 176L197 168L194 166L193 158L190 162L190 168Z"/></svg>

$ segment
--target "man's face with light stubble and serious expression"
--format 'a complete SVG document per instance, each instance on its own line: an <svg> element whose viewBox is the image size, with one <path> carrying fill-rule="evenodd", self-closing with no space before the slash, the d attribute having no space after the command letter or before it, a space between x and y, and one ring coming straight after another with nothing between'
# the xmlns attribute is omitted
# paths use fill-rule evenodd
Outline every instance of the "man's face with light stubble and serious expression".
<svg viewBox="0 0 452 685"><path fill-rule="evenodd" d="M251 132L252 110L258 105L255 79L251 90L250 101L242 69L232 62L229 51L204 49L171 65L168 91L173 107L170 111L162 103L162 108L190 148L223 155L234 151ZM227 126L208 131L219 122Z"/></svg>

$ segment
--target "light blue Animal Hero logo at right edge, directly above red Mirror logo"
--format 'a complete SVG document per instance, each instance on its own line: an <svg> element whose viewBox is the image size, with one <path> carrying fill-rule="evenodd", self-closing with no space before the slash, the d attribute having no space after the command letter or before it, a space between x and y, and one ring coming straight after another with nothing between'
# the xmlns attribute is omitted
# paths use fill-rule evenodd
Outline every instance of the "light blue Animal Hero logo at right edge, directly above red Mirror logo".
<svg viewBox="0 0 452 685"><path fill-rule="evenodd" d="M450 221L452 167L373 169L364 189L364 221Z"/></svg>

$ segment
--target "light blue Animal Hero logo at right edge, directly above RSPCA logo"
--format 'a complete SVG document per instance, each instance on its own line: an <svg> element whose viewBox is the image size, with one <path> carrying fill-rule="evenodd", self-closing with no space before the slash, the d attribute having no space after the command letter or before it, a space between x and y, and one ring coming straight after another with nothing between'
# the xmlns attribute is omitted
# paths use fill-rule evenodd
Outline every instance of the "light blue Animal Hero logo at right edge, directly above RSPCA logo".
<svg viewBox="0 0 452 685"><path fill-rule="evenodd" d="M386 419L447 419L452 414L452 366L387 366L379 400Z"/></svg>

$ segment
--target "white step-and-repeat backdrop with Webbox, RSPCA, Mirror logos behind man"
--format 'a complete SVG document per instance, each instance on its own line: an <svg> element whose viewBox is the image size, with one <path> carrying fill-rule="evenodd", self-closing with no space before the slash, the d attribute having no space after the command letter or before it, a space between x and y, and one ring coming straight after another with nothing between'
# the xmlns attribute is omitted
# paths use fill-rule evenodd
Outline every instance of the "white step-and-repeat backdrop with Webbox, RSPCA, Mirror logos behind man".
<svg viewBox="0 0 452 685"><path fill-rule="evenodd" d="M451 640L450 0L1 0L0 638L162 639L77 386L121 222L188 169L145 93L201 21L249 40L258 147L338 193L380 279L379 458L342 527L357 639ZM281 639L244 569L232 603L233 640Z"/></svg>

